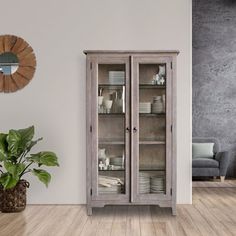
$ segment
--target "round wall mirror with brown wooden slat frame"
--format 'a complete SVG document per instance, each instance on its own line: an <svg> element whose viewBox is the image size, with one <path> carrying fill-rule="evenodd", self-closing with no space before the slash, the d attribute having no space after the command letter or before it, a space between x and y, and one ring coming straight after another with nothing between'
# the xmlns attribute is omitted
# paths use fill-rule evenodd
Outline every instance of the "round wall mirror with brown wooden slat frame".
<svg viewBox="0 0 236 236"><path fill-rule="evenodd" d="M0 36L0 92L15 92L33 78L36 57L32 47L14 35Z"/></svg>

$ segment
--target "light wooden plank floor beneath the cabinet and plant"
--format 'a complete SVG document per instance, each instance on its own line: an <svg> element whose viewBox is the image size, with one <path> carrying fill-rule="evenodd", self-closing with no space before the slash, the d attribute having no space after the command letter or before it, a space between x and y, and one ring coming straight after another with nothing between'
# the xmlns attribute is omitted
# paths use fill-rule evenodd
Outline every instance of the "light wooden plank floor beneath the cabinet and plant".
<svg viewBox="0 0 236 236"><path fill-rule="evenodd" d="M194 188L193 205L168 209L108 206L86 215L85 206L27 206L0 213L1 236L236 235L236 188Z"/></svg>

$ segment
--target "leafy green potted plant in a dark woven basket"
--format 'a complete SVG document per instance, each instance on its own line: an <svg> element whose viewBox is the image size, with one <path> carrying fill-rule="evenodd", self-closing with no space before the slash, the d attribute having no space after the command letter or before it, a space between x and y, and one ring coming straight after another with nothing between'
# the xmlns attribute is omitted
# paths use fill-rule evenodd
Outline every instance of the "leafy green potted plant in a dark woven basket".
<svg viewBox="0 0 236 236"><path fill-rule="evenodd" d="M59 166L57 156L50 151L30 154L42 138L33 140L34 126L0 133L0 209L2 212L17 212L25 209L26 188L29 183L25 174L35 175L48 186L51 175L41 166Z"/></svg>

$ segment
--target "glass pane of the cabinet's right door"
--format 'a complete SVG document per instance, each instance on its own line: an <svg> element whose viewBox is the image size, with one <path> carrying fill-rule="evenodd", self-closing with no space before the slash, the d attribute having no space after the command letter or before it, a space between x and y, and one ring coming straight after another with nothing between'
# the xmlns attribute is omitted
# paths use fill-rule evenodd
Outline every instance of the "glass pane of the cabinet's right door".
<svg viewBox="0 0 236 236"><path fill-rule="evenodd" d="M139 194L164 194L166 64L139 65Z"/></svg>

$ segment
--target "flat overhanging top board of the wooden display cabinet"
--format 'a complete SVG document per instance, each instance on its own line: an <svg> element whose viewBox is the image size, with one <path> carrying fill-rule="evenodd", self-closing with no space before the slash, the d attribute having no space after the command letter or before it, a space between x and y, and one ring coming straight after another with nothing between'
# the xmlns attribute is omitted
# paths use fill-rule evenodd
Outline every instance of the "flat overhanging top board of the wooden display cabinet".
<svg viewBox="0 0 236 236"><path fill-rule="evenodd" d="M179 54L178 50L84 50L84 54Z"/></svg>

